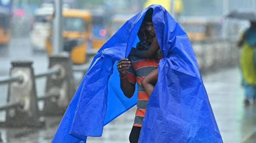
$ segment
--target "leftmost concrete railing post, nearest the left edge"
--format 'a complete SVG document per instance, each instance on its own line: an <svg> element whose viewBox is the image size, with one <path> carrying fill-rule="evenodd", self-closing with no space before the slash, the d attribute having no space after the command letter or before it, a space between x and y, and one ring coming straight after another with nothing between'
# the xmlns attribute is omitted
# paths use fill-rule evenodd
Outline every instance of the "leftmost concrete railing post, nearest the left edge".
<svg viewBox="0 0 256 143"><path fill-rule="evenodd" d="M39 125L39 109L35 89L35 77L31 61L14 61L11 63L10 75L22 77L22 82L12 82L8 87L7 103L20 102L23 107L7 109L6 126Z"/></svg>

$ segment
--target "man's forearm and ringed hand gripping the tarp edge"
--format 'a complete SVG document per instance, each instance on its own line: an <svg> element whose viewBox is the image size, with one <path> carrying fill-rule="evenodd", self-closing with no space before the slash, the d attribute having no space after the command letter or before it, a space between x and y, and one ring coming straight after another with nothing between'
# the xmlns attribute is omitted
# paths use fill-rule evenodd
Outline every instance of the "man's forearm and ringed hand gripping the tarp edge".
<svg viewBox="0 0 256 143"><path fill-rule="evenodd" d="M117 63L117 70L119 71L120 77L120 86L124 95L128 98L133 96L135 91L135 84L132 84L128 81L126 77L126 70L131 66L131 62L127 58L123 58Z"/></svg>

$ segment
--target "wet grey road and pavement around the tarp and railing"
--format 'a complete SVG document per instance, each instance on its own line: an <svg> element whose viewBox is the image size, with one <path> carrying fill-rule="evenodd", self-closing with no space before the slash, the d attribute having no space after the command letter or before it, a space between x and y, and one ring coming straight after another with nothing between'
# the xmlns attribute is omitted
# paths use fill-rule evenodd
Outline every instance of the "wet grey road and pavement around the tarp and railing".
<svg viewBox="0 0 256 143"><path fill-rule="evenodd" d="M45 53L33 54L28 38L13 39L8 54L0 52L0 76L8 75L12 60L33 60L35 73L46 71L48 58ZM79 80L83 75L75 75ZM222 69L203 75L214 115L224 143L256 143L256 106L243 106L241 75L238 68ZM45 79L36 81L38 95L45 91ZM7 85L0 85L0 105L6 103ZM39 108L42 104L39 104ZM102 137L88 138L88 143L128 143L135 109L104 127ZM5 113L0 112L3 121ZM4 143L50 143L61 117L47 117L45 128L0 128Z"/></svg>

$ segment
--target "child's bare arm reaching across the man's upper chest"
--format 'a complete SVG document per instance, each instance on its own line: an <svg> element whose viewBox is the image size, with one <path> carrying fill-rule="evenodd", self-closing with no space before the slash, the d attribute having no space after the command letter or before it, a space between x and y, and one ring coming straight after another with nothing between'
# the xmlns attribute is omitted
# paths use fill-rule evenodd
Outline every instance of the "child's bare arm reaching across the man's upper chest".
<svg viewBox="0 0 256 143"><path fill-rule="evenodd" d="M137 49L136 51L134 51L135 49L133 49L132 54L141 58L150 58L158 51L158 49L159 49L158 39L155 36L150 47L146 51L140 51Z"/></svg>

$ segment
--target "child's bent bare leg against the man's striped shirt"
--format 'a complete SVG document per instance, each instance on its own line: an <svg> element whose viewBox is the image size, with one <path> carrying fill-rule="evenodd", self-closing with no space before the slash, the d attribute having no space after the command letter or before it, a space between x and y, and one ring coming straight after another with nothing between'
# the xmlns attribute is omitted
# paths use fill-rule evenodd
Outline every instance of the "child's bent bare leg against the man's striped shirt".
<svg viewBox="0 0 256 143"><path fill-rule="evenodd" d="M143 86L147 95L151 95L154 89L154 85L158 81L158 68L148 74L146 77L143 78L141 85Z"/></svg>

